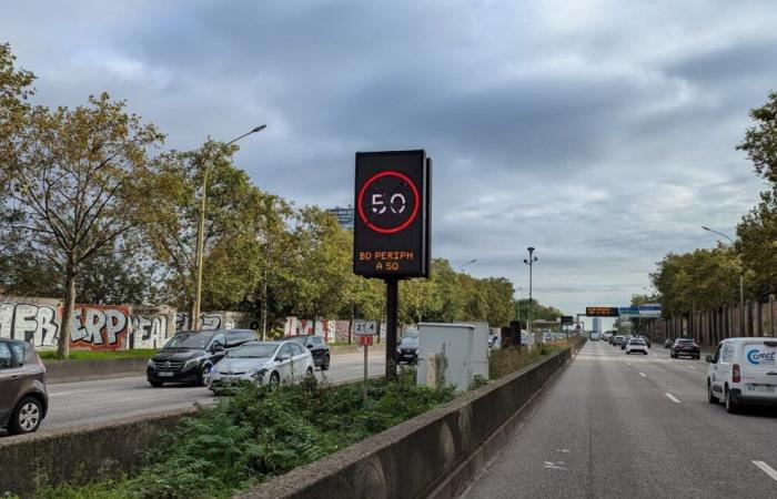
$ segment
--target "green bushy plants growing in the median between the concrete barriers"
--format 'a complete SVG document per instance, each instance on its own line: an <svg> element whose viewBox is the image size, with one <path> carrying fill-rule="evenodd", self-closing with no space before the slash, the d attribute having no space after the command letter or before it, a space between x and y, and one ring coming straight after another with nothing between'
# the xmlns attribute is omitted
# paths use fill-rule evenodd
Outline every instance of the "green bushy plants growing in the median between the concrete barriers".
<svg viewBox="0 0 777 499"><path fill-rule="evenodd" d="M50 487L44 498L226 498L383 431L453 398L415 386L405 369L394 383L280 388L248 385L164 435L134 476L83 487Z"/></svg>

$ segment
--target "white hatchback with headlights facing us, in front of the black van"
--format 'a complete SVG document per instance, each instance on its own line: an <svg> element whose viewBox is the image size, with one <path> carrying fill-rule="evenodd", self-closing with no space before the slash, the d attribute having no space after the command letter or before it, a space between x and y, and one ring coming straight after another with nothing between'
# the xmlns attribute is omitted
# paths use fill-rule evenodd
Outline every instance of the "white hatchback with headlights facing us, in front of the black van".
<svg viewBox="0 0 777 499"><path fill-rule="evenodd" d="M229 350L208 373L214 394L242 381L280 385L313 376L313 355L297 342L249 342Z"/></svg>

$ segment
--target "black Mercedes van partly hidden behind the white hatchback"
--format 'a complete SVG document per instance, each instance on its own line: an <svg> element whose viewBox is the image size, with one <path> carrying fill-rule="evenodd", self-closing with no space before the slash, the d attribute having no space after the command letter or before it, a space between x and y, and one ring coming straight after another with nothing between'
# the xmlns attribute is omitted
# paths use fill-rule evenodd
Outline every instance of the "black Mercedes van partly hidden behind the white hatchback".
<svg viewBox="0 0 777 499"><path fill-rule="evenodd" d="M153 387L181 381L204 385L208 371L228 349L256 339L256 333L251 329L175 333L162 350L149 359L145 377Z"/></svg>

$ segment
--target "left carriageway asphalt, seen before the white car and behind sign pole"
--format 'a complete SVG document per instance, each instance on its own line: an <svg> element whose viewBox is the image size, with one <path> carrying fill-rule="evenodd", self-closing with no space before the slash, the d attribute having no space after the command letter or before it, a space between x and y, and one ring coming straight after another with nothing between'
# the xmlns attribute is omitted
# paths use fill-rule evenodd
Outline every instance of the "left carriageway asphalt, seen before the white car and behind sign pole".
<svg viewBox="0 0 777 499"><path fill-rule="evenodd" d="M367 365L370 375L385 371L382 353L370 355ZM316 369L315 374L319 379L332 383L360 379L364 376L364 356L333 356L330 370ZM152 388L145 376L50 385L49 414L38 431L141 417L149 413L191 407L193 404L213 404L215 400L218 397L204 387L178 384Z"/></svg>

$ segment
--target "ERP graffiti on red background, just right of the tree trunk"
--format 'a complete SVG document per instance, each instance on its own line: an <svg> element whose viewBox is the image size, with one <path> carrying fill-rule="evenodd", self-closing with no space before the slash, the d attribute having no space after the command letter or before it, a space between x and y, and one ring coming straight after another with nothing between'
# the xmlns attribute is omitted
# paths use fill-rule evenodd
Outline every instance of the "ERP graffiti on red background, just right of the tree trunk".
<svg viewBox="0 0 777 499"><path fill-rule="evenodd" d="M119 350L127 348L130 307L75 305L70 346L73 349Z"/></svg>

